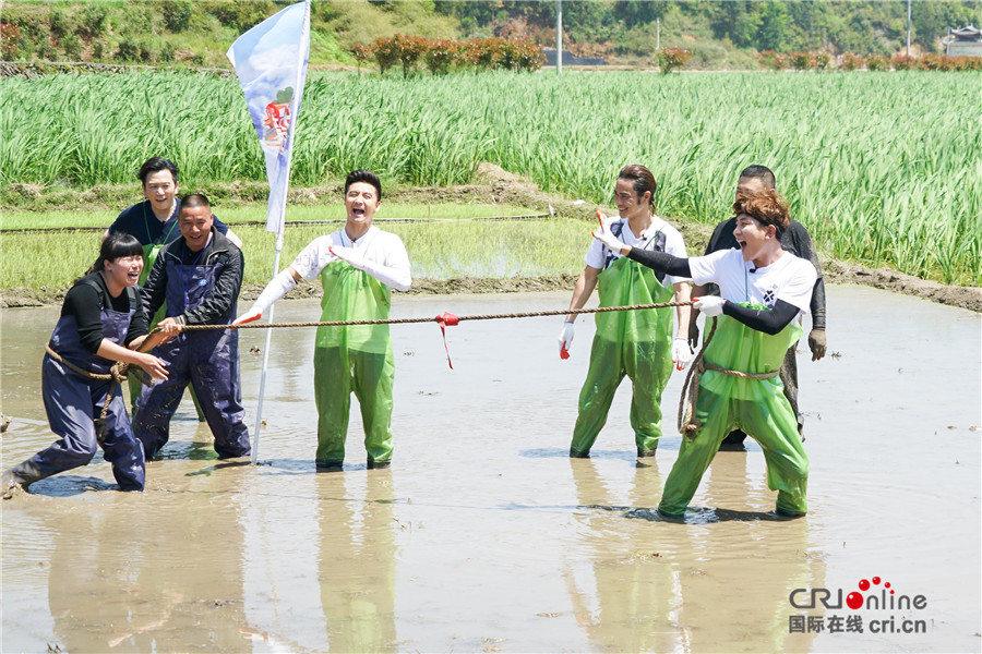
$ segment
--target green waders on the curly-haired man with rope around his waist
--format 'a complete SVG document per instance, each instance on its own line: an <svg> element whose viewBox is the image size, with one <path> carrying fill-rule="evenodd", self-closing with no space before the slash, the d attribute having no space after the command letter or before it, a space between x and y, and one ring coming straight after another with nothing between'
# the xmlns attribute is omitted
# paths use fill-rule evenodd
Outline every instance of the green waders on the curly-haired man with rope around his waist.
<svg viewBox="0 0 982 654"><path fill-rule="evenodd" d="M768 336L729 316L719 316L705 361L729 371L773 373L780 370L785 353L801 338L801 327L792 323ZM740 428L764 450L767 486L778 492L778 511L792 516L807 512L809 458L798 435L798 416L785 397L780 377L746 379L707 370L699 377L694 417L699 427L692 438L682 438L659 510L670 514L685 511L719 444L727 434Z"/></svg>

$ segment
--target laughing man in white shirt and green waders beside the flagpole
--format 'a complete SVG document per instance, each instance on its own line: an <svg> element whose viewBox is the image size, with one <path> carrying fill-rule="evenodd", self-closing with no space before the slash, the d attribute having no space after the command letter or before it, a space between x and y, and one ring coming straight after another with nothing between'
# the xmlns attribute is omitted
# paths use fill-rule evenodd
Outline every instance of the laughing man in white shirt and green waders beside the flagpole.
<svg viewBox="0 0 982 654"><path fill-rule="evenodd" d="M391 289L412 282L402 240L372 226L382 202L382 183L368 170L345 180L345 228L315 239L271 281L252 308L233 324L262 317L300 279L321 277L321 320L384 320ZM395 366L388 325L319 327L314 349L318 405L318 470L340 470L348 434L351 393L361 407L370 469L392 462L392 383Z"/></svg>

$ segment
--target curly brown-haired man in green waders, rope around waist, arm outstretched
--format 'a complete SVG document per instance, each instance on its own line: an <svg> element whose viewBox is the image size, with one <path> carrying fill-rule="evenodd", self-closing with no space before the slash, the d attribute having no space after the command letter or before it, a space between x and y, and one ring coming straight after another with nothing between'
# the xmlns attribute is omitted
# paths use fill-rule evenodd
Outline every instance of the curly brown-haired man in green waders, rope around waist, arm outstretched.
<svg viewBox="0 0 982 654"><path fill-rule="evenodd" d="M778 513L803 516L809 458L778 372L788 348L801 337L798 318L809 311L817 272L810 262L781 249L790 218L774 191L738 194L733 214L740 249L706 256L682 258L632 247L609 225L594 238L652 270L690 277L698 284L712 282L720 290L718 298L695 300L696 308L719 320L703 355L707 370L698 383L696 428L682 438L659 511L685 512L719 444L740 428L764 450L767 485L778 492Z"/></svg>

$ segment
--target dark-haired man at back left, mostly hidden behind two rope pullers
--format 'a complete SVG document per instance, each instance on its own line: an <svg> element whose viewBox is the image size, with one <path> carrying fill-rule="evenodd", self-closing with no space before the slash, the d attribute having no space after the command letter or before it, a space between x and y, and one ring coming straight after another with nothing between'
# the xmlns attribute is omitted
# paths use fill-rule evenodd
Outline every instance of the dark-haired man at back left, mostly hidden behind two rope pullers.
<svg viewBox="0 0 982 654"><path fill-rule="evenodd" d="M109 234L120 232L136 237L136 240L143 246L143 272L140 274L140 281L137 282L142 287L154 267L154 262L157 259L160 249L168 243L177 241L181 235L181 230L177 226L177 215L181 208L181 199L177 196L177 166L170 159L151 157L140 167L140 172L136 173L136 177L140 178L143 195L146 199L123 209L116 218L116 221L106 230L106 233L103 234L103 238L105 239ZM228 229L227 225L214 216L212 219L215 229L225 234L236 247L242 247L242 242ZM157 315L148 316L148 329L157 326L166 311L167 305L164 305L157 312ZM140 397L142 385L135 374L130 375L129 385L130 408L135 412L136 398ZM197 404L197 398L194 397L193 390L191 390L191 398L194 400L194 408L197 410L197 420L204 422L204 413Z"/></svg>

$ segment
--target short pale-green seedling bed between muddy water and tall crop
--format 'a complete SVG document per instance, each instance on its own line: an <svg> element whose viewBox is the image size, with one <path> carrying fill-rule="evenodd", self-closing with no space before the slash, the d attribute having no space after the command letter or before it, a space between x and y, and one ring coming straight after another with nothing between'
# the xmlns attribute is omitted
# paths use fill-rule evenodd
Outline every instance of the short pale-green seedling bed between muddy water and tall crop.
<svg viewBox="0 0 982 654"><path fill-rule="evenodd" d="M288 228L282 265L288 265L310 241L339 226ZM452 221L388 223L383 229L405 242L414 276L432 279L568 272L583 266L590 243L589 230L582 222L563 219L536 220L534 227L523 221ZM273 271L274 234L255 226L235 230L244 245L244 282L266 283ZM4 234L2 287L68 286L95 261L100 239L99 232Z"/></svg>

